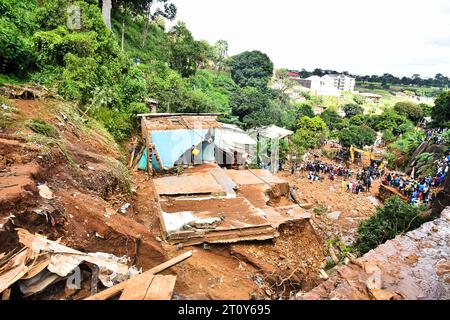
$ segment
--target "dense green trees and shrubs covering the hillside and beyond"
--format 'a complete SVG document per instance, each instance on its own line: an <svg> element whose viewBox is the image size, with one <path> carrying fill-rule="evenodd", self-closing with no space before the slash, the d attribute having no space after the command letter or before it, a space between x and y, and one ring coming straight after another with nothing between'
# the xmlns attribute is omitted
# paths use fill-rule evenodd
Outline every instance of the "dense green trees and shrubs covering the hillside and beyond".
<svg viewBox="0 0 450 320"><path fill-rule="evenodd" d="M391 144L412 136L428 116L433 126L448 126L446 91L436 107L398 99L374 111L355 94L337 99L304 93L304 102L294 102L284 90L287 72L274 74L266 54L228 57L225 40L196 40L182 22L166 28L163 16L147 21L130 3L116 2L109 30L96 0L0 0L0 81L51 88L77 102L118 142L136 131L135 115L149 111L148 98L159 101L160 112L217 112L221 121L243 128L287 127L295 131L290 148L299 154L328 138L344 146L370 145L376 131ZM317 106L325 112L315 115Z"/></svg>

